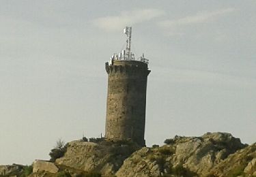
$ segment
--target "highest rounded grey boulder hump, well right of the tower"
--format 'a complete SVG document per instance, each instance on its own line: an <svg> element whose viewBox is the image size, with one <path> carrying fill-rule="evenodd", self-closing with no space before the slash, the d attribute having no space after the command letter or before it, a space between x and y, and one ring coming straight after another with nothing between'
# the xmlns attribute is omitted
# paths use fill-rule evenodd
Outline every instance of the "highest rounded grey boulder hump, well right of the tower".
<svg viewBox="0 0 256 177"><path fill-rule="evenodd" d="M175 154L171 158L173 166L182 164L190 171L204 175L245 145L229 133L206 133L199 138L180 138L175 140Z"/></svg>

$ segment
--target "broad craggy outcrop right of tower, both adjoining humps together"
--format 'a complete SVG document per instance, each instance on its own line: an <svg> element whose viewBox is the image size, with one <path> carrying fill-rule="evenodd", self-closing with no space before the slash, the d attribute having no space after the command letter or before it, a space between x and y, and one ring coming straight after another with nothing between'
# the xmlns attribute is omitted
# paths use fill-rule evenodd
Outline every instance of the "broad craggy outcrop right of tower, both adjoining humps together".
<svg viewBox="0 0 256 177"><path fill-rule="evenodd" d="M229 133L180 137L156 148L142 148L124 161L116 176L206 176L210 170L245 145Z"/></svg>

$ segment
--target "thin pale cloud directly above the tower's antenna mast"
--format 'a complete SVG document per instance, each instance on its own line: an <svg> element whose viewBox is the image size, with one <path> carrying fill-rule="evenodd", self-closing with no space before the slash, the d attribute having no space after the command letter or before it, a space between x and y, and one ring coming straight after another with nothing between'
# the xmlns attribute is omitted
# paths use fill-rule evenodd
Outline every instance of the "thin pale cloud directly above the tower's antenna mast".
<svg viewBox="0 0 256 177"><path fill-rule="evenodd" d="M106 31L119 31L120 27L132 26L134 24L152 20L165 14L158 9L144 9L121 12L118 16L106 16L96 18L93 24Z"/></svg>

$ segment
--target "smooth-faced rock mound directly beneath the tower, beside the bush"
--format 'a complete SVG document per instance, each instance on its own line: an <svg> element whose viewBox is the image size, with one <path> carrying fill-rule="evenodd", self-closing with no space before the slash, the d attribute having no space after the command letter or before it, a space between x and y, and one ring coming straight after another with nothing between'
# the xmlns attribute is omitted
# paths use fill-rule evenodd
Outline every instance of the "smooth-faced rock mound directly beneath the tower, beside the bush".
<svg viewBox="0 0 256 177"><path fill-rule="evenodd" d="M77 140L68 143L67 152L64 157L57 159L56 163L85 172L100 172L104 176L111 176L136 149L136 146L129 143Z"/></svg>

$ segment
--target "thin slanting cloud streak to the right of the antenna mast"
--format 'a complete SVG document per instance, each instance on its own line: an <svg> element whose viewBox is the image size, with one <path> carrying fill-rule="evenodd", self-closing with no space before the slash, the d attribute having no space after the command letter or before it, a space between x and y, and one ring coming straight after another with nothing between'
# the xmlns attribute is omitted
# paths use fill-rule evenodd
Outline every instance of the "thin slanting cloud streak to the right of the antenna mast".
<svg viewBox="0 0 256 177"><path fill-rule="evenodd" d="M161 22L158 22L158 25L162 27L162 29L168 30L169 35L182 35L182 33L179 32L179 29L181 27L209 22L210 20L214 20L216 18L219 18L220 16L229 14L234 11L235 9L231 7L222 10L216 10L213 12L202 11L198 12L193 16L186 16L184 18L179 18L176 20L162 20Z"/></svg>

